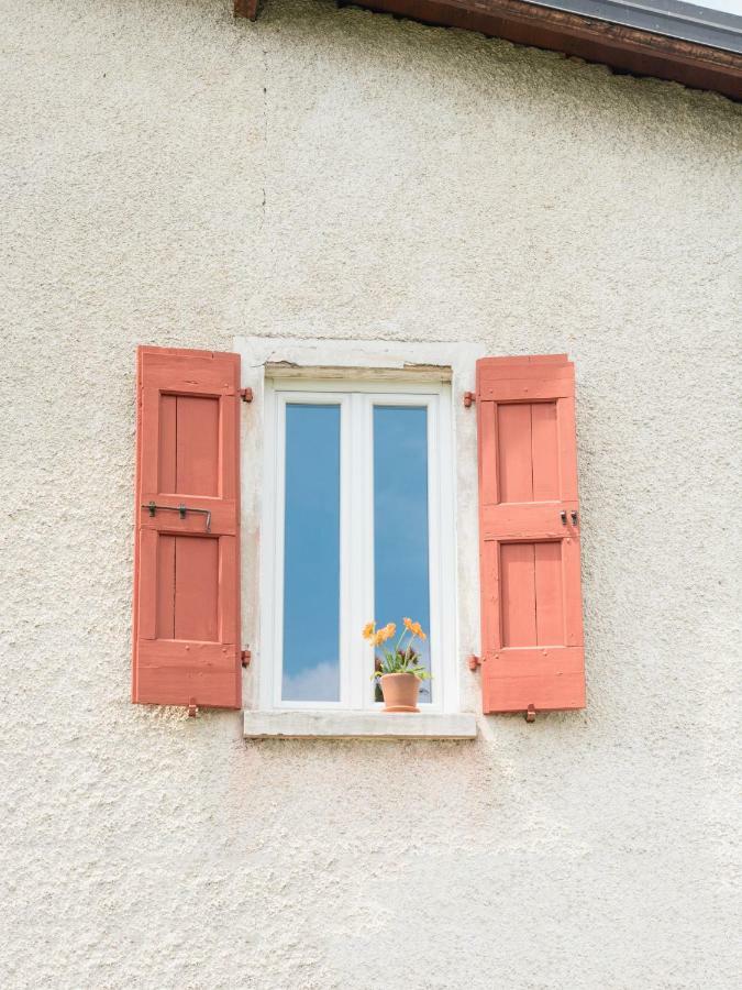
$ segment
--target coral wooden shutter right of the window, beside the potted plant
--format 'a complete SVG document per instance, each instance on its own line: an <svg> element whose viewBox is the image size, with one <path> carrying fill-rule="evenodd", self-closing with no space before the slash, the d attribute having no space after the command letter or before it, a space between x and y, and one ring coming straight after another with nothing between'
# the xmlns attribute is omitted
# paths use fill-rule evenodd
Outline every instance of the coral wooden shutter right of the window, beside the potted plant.
<svg viewBox="0 0 742 990"><path fill-rule="evenodd" d="M484 711L585 707L575 373L477 362Z"/></svg>

